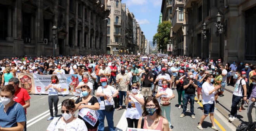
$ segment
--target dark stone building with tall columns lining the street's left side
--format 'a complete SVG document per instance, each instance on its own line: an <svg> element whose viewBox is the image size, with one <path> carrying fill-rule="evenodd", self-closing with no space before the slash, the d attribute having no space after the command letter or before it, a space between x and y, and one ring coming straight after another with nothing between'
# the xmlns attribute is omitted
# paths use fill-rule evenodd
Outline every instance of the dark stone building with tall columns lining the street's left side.
<svg viewBox="0 0 256 131"><path fill-rule="evenodd" d="M106 53L104 0L1 0L0 57Z"/></svg>

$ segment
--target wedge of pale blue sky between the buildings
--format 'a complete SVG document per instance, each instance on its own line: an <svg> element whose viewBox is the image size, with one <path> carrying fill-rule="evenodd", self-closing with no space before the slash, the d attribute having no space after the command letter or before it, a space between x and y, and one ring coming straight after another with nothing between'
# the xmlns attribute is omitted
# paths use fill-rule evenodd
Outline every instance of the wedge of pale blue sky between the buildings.
<svg viewBox="0 0 256 131"><path fill-rule="evenodd" d="M157 32L162 0L122 0L140 24L147 40L152 41Z"/></svg>

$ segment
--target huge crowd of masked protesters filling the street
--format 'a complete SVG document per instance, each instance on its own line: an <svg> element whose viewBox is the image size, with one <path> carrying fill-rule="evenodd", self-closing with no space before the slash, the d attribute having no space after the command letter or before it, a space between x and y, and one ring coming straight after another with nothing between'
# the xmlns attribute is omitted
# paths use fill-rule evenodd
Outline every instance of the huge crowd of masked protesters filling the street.
<svg viewBox="0 0 256 131"><path fill-rule="evenodd" d="M180 118L191 116L195 119L196 96L196 102L202 102L204 112L197 128L203 129L202 122L210 114L211 128L218 130L214 124L214 104L218 97L224 96L226 85L234 86L229 121L237 119L237 105L242 111L245 109L243 104L247 102L248 121L253 126L251 113L256 101L256 66L249 63L234 61L224 64L221 59L214 61L172 55L145 55L144 59L139 55L4 58L0 60L0 110L3 110L0 116L4 116L0 117L0 131L26 130L26 108L30 106L30 97L26 89L19 87L17 73L52 75L45 89L49 91L50 118L47 120L52 120L48 131L103 131L105 116L109 130L114 131L115 109L126 109L129 128L169 131L172 128L171 103L183 109ZM78 99L62 102L62 117L57 117L61 85L56 74L82 76L82 81L76 87L75 96ZM178 101L172 100L175 98L174 90L178 92ZM188 104L190 114L187 113ZM75 111L83 108L99 113L94 126L81 116L75 117Z"/></svg>

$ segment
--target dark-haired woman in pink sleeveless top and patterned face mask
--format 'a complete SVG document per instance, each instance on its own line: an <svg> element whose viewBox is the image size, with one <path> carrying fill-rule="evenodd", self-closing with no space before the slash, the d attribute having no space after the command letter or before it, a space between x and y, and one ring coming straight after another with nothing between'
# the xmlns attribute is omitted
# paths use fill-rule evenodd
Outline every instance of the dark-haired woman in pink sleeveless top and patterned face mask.
<svg viewBox="0 0 256 131"><path fill-rule="evenodd" d="M142 117L138 121L138 128L143 126L142 129L169 131L168 120L161 115L162 111L156 98L149 97L144 103L143 110Z"/></svg>

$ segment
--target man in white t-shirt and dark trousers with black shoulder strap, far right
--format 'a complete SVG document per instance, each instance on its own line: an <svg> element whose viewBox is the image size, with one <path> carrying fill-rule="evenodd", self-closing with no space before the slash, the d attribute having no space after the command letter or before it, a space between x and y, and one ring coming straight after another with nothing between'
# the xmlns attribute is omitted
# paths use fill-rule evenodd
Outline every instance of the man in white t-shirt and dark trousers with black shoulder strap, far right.
<svg viewBox="0 0 256 131"><path fill-rule="evenodd" d="M235 72L235 77L237 81L235 82L229 121L235 121L237 119L237 104L239 104L241 99L244 101L247 99L246 81L242 78L242 73L240 71Z"/></svg>

